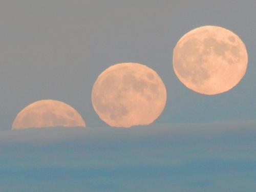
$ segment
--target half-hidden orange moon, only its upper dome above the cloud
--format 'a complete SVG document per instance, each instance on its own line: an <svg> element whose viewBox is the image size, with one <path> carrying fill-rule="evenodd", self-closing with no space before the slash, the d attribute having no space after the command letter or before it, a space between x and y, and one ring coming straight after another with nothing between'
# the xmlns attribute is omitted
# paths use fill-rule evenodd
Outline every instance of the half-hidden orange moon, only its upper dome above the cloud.
<svg viewBox="0 0 256 192"><path fill-rule="evenodd" d="M18 113L12 129L43 127L85 127L86 123L72 106L56 100L39 100Z"/></svg>

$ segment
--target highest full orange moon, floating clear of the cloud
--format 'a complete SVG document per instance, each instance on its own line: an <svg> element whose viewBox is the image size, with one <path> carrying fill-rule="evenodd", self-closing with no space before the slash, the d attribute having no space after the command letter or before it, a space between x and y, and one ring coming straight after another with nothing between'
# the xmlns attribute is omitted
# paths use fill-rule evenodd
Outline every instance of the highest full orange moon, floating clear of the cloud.
<svg viewBox="0 0 256 192"><path fill-rule="evenodd" d="M238 35L217 26L186 33L173 52L173 68L189 89L206 95L226 92L246 72L248 56Z"/></svg>

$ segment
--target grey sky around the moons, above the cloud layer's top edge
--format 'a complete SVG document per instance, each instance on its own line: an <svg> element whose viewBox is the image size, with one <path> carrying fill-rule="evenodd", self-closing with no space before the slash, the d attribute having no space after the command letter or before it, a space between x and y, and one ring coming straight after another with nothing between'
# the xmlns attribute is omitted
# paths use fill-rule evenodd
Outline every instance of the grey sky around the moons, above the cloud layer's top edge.
<svg viewBox="0 0 256 192"><path fill-rule="evenodd" d="M256 2L217 1L10 1L0 2L0 122L9 130L16 114L40 99L72 105L89 126L105 126L91 104L97 76L119 62L156 70L167 88L157 120L255 120ZM172 52L186 32L203 25L230 29L249 55L245 77L221 95L183 86Z"/></svg>

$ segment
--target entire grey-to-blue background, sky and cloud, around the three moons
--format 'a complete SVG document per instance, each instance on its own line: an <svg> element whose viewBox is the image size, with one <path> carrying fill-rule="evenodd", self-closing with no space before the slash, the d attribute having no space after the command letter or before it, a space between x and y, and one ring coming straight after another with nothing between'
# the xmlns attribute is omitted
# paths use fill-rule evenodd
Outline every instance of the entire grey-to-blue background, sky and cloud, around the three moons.
<svg viewBox="0 0 256 192"><path fill-rule="evenodd" d="M0 2L1 191L254 191L256 185L256 2L254 0L2 0ZM247 72L229 92L188 90L172 52L204 25L244 41ZM156 70L167 105L148 127L110 129L91 90L110 65ZM72 105L84 130L11 132L40 99Z"/></svg>

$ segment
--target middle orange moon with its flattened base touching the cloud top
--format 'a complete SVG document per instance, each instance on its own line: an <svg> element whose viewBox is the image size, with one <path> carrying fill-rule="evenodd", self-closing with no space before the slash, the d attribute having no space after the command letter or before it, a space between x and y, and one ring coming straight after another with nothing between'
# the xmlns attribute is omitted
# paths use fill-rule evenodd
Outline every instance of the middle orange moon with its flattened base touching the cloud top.
<svg viewBox="0 0 256 192"><path fill-rule="evenodd" d="M92 90L100 119L115 127L152 123L162 113L166 89L152 69L139 63L119 63L103 71Z"/></svg>

